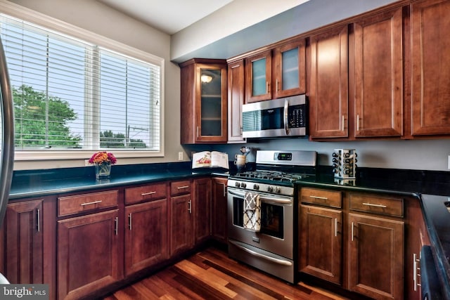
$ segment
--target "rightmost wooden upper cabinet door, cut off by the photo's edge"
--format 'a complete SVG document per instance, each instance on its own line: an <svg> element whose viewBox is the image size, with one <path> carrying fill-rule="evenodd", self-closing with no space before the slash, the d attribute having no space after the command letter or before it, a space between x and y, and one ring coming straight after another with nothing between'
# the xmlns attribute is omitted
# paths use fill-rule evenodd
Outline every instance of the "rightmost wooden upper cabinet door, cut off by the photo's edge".
<svg viewBox="0 0 450 300"><path fill-rule="evenodd" d="M450 1L411 4L413 136L450 134Z"/></svg>

